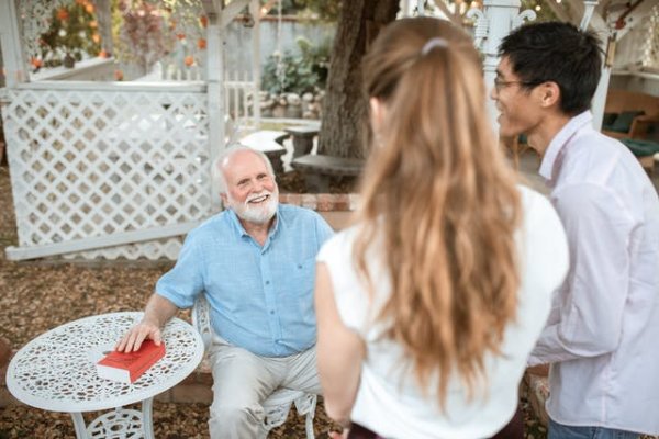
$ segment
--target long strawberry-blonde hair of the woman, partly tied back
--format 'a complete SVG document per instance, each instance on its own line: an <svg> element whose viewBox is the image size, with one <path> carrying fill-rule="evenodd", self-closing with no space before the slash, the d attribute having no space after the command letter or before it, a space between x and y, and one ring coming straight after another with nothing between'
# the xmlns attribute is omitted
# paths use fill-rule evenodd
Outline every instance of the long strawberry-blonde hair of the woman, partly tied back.
<svg viewBox="0 0 659 439"><path fill-rule="evenodd" d="M424 49L431 38L439 40ZM444 406L451 373L473 395L485 353L501 354L515 318L516 180L487 115L479 55L461 30L399 20L378 36L362 72L367 98L386 111L378 132L369 127L354 258L372 291L367 251L382 243L386 337L402 346L422 389L438 373Z"/></svg>

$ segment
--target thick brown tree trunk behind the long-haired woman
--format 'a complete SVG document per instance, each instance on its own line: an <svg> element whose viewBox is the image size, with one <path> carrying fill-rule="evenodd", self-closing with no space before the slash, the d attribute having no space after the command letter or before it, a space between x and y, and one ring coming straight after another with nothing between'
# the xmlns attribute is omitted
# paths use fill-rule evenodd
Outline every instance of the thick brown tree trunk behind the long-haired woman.
<svg viewBox="0 0 659 439"><path fill-rule="evenodd" d="M334 38L319 154L364 157L361 58L379 30L395 19L399 0L344 0Z"/></svg>

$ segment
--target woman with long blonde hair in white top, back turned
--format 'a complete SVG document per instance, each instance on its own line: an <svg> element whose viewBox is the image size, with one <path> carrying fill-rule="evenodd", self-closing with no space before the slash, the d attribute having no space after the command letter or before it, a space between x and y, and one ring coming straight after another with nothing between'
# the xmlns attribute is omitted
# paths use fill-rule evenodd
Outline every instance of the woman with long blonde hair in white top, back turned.
<svg viewBox="0 0 659 439"><path fill-rule="evenodd" d="M499 148L466 33L396 21L362 75L358 221L317 257L325 409L348 437L493 437L567 272L562 227Z"/></svg>

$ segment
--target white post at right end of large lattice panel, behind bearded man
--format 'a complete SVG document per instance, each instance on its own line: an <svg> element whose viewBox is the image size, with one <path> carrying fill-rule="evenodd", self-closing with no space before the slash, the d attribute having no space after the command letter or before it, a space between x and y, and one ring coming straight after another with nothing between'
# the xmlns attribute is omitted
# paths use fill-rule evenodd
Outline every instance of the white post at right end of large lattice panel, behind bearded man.
<svg viewBox="0 0 659 439"><path fill-rule="evenodd" d="M209 26L206 29L208 63L206 81L209 99L209 159L211 166L224 150L224 41L223 27L220 26L220 18L209 14ZM210 169L210 167L209 167ZM220 211L220 188L215 182L211 185L211 204L213 211Z"/></svg>

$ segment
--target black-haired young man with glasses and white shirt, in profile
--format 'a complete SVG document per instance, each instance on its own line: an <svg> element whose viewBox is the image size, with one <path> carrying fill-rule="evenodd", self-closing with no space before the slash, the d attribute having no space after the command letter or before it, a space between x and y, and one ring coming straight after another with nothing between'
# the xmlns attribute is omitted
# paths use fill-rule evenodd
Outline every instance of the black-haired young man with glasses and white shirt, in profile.
<svg viewBox="0 0 659 439"><path fill-rule="evenodd" d="M592 127L599 41L567 23L517 29L492 99L527 135L566 228L570 271L529 365L551 363L549 438L659 434L659 200L619 142ZM526 261L533 263L533 261Z"/></svg>

